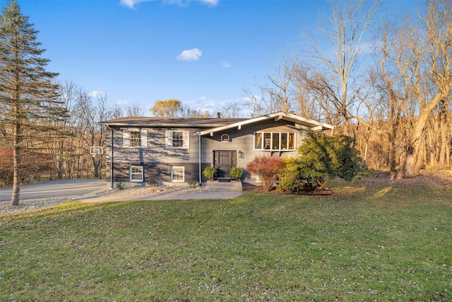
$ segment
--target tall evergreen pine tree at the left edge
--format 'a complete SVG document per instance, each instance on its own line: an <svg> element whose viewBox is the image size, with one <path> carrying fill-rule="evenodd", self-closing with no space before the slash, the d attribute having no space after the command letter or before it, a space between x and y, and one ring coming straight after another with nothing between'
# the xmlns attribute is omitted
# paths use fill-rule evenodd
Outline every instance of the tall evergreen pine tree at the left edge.
<svg viewBox="0 0 452 302"><path fill-rule="evenodd" d="M44 140L58 132L58 120L66 116L59 103L58 74L44 68L49 59L37 42L37 30L20 11L16 0L8 2L0 16L0 106L1 129L6 146L13 153L13 192L11 206L19 204L21 159L39 153ZM32 144L30 144L32 142Z"/></svg>

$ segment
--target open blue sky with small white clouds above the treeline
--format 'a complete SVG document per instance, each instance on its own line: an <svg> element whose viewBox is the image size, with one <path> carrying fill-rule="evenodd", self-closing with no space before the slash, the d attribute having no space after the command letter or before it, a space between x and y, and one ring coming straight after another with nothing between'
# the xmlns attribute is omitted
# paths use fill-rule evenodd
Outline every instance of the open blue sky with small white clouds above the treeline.
<svg viewBox="0 0 452 302"><path fill-rule="evenodd" d="M0 1L4 4L5 1ZM19 0L58 72L110 104L177 98L192 109L246 102L254 76L299 52L325 1Z"/></svg>

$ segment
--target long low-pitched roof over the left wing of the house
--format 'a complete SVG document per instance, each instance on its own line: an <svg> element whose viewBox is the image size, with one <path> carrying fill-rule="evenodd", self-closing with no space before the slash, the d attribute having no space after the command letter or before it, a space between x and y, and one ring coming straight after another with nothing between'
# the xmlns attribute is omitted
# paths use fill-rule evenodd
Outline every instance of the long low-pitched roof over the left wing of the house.
<svg viewBox="0 0 452 302"><path fill-rule="evenodd" d="M248 119L206 117L121 117L99 124L110 127L198 127L213 128Z"/></svg>

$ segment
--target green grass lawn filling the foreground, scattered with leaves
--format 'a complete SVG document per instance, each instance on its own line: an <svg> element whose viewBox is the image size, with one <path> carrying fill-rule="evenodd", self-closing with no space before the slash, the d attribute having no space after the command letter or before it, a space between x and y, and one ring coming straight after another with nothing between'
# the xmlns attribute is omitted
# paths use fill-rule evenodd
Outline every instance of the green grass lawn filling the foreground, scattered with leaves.
<svg viewBox="0 0 452 302"><path fill-rule="evenodd" d="M451 188L0 215L0 301L452 301Z"/></svg>

